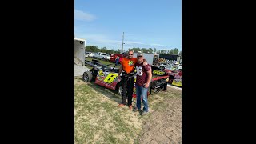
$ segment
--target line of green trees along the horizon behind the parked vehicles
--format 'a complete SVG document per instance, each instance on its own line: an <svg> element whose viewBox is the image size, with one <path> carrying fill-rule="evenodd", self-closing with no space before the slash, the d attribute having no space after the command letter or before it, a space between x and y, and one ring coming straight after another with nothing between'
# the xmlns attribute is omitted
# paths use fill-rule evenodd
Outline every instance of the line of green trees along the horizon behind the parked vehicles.
<svg viewBox="0 0 256 144"><path fill-rule="evenodd" d="M106 47L102 47L99 48L98 46L86 46L86 51L88 52L102 52L102 53L107 53L107 54L121 54L122 50L118 49L118 50L114 50L114 49L107 49ZM179 52L177 48L174 49L170 49L170 50L156 50L156 48L154 48L154 50L152 48L139 48L139 47L134 47L134 48L130 48L129 50L134 50L134 52L138 52L141 51L142 53L156 53L156 54L178 54L181 53L181 51Z"/></svg>

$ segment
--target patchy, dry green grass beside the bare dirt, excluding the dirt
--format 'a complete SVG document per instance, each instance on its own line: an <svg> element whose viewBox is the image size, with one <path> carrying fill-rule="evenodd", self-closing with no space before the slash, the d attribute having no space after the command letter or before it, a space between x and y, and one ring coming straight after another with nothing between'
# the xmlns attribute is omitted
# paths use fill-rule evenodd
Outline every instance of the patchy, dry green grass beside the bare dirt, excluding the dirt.
<svg viewBox="0 0 256 144"><path fill-rule="evenodd" d="M170 90L154 94L149 98L150 109L162 110L166 107L162 105L164 99L174 97L181 97L181 93ZM146 122L150 114L141 116L127 106L120 108L118 102L121 100L121 96L114 90L76 78L74 143L138 143L143 122Z"/></svg>

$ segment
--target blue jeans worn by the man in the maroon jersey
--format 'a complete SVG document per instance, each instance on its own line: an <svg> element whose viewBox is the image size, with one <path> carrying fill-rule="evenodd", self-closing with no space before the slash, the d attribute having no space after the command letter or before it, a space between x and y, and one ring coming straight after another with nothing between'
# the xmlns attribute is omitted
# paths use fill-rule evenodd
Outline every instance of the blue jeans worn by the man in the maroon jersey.
<svg viewBox="0 0 256 144"><path fill-rule="evenodd" d="M148 112L149 111L149 106L147 102L147 90L148 88L145 88L143 86L138 86L136 85L136 106L138 109L141 109L142 103L143 103L143 110ZM141 102L142 99L142 102Z"/></svg>

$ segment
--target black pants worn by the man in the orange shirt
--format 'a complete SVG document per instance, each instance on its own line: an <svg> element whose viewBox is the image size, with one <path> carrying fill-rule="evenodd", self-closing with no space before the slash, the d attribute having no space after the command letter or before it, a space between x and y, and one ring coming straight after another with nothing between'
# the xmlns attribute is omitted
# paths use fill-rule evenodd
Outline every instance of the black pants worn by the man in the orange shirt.
<svg viewBox="0 0 256 144"><path fill-rule="evenodd" d="M126 97L128 97L128 106L132 103L134 90L134 77L122 78L122 104L126 105ZM126 95L127 92L127 95Z"/></svg>

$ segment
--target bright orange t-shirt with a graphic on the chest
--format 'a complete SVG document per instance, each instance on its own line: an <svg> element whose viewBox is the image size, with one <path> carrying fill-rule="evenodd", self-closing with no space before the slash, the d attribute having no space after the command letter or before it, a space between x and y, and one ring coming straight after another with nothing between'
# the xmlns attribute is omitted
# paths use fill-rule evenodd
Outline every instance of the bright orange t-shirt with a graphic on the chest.
<svg viewBox="0 0 256 144"><path fill-rule="evenodd" d="M126 73L130 73L135 70L135 64L138 62L137 58L122 58L122 70L126 71Z"/></svg>

